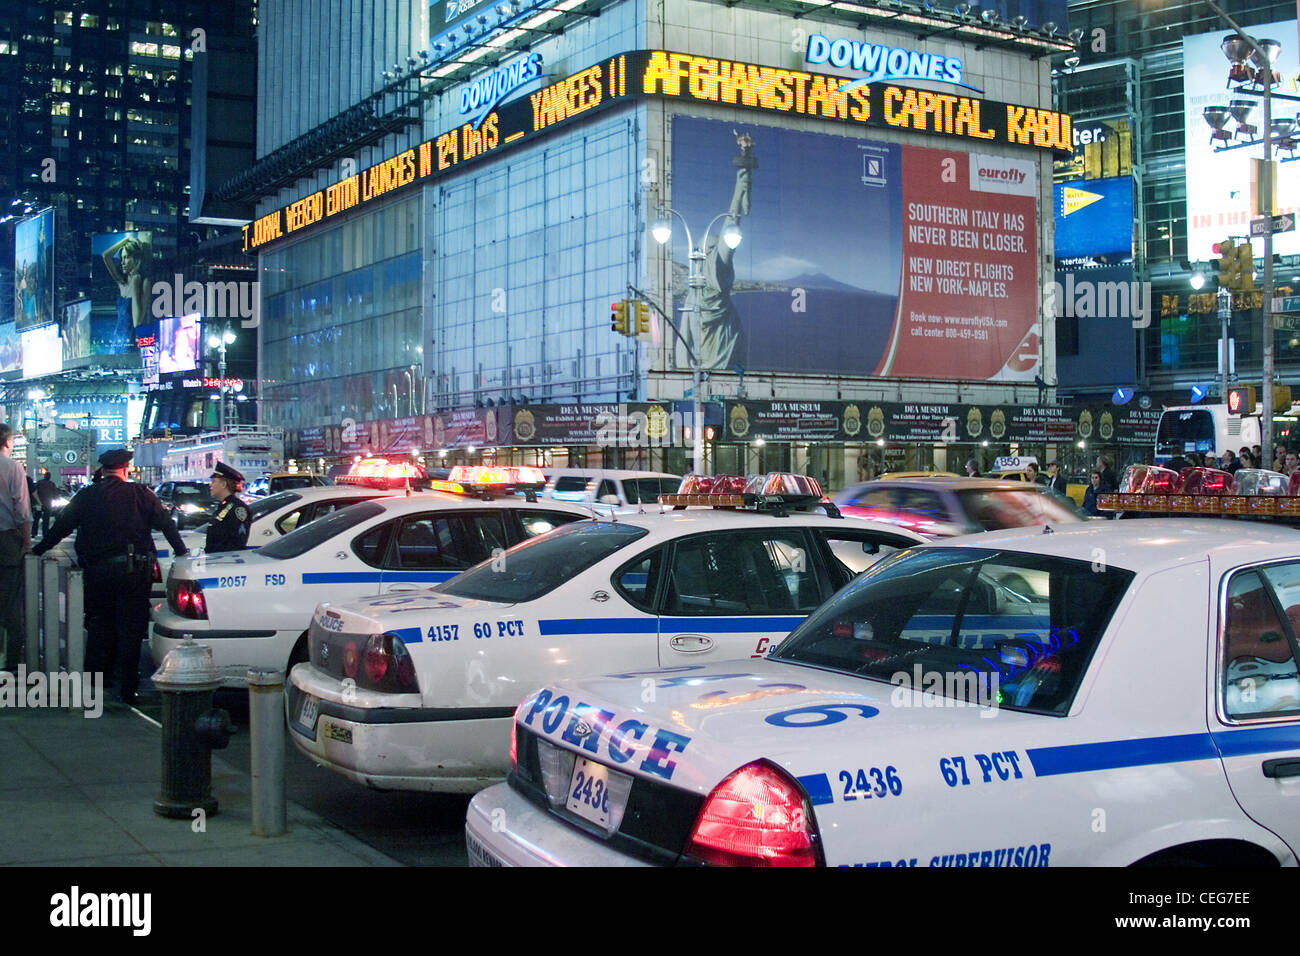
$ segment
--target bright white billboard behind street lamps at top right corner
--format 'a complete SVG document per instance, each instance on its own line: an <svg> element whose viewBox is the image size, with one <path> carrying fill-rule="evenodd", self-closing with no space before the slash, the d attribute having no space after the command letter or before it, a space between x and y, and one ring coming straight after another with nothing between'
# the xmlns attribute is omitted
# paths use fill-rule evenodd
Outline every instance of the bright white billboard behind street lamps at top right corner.
<svg viewBox="0 0 1300 956"><path fill-rule="evenodd" d="M1295 126L1300 92L1300 57L1296 53L1296 21L1243 23L1257 40L1275 40L1278 55L1273 70L1280 83L1273 87L1274 130L1280 140L1295 142L1295 133L1282 133L1279 120ZM1231 42L1226 42L1231 40ZM1230 60L1228 53L1238 57ZM1228 235L1248 235L1252 219L1251 160L1264 157L1264 87L1254 82L1257 72L1240 60L1239 38L1228 30L1183 38L1183 113L1187 166L1187 255L1193 261L1214 259L1214 243ZM1274 77L1277 79L1277 77ZM1275 140L1275 142L1280 142ZM1291 151L1290 157L1295 156ZM1274 150L1278 165L1277 212L1300 209L1300 176L1290 157ZM1275 255L1300 254L1300 233L1273 237ZM1262 245L1256 246L1256 255Z"/></svg>

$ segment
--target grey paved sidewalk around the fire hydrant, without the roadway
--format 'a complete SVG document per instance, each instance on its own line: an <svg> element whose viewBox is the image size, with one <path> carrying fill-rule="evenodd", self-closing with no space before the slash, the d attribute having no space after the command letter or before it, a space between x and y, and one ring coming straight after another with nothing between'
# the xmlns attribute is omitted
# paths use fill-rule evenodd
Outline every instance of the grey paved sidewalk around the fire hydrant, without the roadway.
<svg viewBox="0 0 1300 956"><path fill-rule="evenodd" d="M118 708L0 708L0 865L3 866L398 866L287 804L283 836L252 835L248 767L212 758L218 801L205 831L153 813L161 731Z"/></svg>

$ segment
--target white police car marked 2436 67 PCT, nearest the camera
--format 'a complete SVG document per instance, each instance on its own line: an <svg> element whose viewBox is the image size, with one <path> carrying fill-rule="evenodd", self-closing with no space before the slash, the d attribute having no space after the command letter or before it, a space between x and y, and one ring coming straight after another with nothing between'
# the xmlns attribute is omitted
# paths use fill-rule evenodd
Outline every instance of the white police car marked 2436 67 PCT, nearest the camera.
<svg viewBox="0 0 1300 956"><path fill-rule="evenodd" d="M881 562L770 659L552 680L471 860L1294 866L1297 555L1245 522L976 535Z"/></svg>

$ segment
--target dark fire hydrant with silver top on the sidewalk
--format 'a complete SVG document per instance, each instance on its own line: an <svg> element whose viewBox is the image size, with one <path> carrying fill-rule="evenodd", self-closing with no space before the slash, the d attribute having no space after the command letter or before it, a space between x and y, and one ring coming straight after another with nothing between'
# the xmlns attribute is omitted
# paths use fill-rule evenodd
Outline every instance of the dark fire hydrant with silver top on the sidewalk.
<svg viewBox="0 0 1300 956"><path fill-rule="evenodd" d="M190 819L195 810L217 812L212 796L212 750L230 743L230 714L212 706L221 674L212 648L187 640L168 652L153 675L162 692L162 790L153 812Z"/></svg>

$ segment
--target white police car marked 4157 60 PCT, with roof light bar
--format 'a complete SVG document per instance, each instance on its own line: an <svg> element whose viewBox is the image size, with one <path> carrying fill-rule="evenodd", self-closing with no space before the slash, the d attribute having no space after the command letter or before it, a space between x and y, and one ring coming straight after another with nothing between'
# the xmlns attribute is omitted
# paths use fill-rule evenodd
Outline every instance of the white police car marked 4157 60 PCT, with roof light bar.
<svg viewBox="0 0 1300 956"><path fill-rule="evenodd" d="M290 735L376 788L473 792L508 771L510 717L537 683L763 657L922 540L792 510L820 499L802 476L688 476L646 514L566 525L432 593L324 604L290 674Z"/></svg>

